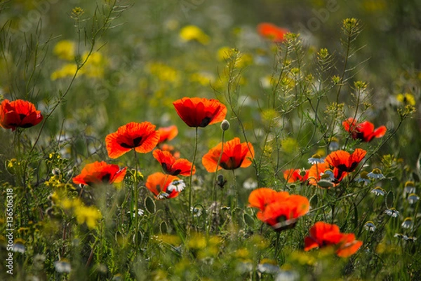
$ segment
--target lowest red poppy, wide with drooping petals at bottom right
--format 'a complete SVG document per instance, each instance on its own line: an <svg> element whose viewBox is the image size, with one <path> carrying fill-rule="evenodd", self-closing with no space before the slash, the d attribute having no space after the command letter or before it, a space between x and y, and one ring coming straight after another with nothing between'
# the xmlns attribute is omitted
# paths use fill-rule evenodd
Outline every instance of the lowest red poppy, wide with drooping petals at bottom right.
<svg viewBox="0 0 421 281"><path fill-rule="evenodd" d="M316 247L335 247L336 254L341 257L352 256L363 245L362 241L355 240L353 233L340 233L337 225L323 221L316 222L310 228L304 242L305 251Z"/></svg>

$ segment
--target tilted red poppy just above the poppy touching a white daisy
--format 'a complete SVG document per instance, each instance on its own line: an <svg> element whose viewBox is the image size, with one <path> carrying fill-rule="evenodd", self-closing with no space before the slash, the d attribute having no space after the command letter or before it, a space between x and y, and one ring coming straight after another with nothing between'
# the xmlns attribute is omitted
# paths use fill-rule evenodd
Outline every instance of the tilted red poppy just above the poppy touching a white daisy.
<svg viewBox="0 0 421 281"><path fill-rule="evenodd" d="M192 163L187 159L176 159L169 151L161 151L155 149L153 152L154 158L161 164L163 171L172 176L189 176L192 170ZM196 172L196 167L193 167L193 174Z"/></svg>

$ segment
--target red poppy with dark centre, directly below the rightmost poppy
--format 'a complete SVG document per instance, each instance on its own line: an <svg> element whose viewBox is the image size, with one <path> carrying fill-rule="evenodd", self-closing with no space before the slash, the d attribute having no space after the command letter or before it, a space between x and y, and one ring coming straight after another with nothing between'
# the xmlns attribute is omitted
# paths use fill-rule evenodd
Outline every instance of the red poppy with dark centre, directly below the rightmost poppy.
<svg viewBox="0 0 421 281"><path fill-rule="evenodd" d="M340 172L353 172L364 156L366 156L366 153L367 151L364 149L355 149L352 154L343 150L333 151L326 156L326 162L340 170Z"/></svg>

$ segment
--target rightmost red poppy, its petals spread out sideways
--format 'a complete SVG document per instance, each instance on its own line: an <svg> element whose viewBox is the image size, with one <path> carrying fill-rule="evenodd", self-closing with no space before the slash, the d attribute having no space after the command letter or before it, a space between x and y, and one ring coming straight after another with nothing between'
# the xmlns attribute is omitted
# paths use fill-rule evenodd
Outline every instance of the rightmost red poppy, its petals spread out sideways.
<svg viewBox="0 0 421 281"><path fill-rule="evenodd" d="M352 139L361 139L363 142L371 142L375 137L383 137L387 131L385 126L374 129L373 123L368 121L356 123L352 117L343 121L342 125L352 135Z"/></svg>

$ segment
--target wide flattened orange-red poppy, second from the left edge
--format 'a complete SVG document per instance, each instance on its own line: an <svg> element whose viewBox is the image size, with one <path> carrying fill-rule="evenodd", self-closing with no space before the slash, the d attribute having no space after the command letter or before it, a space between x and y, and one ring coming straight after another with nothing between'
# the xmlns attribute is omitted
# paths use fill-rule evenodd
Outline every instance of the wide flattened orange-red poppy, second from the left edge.
<svg viewBox="0 0 421 281"><path fill-rule="evenodd" d="M118 165L107 164L104 161L86 164L81 173L73 178L74 184L112 184L123 181L127 167L120 169Z"/></svg>

